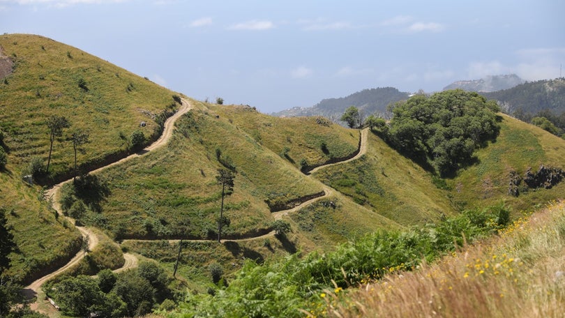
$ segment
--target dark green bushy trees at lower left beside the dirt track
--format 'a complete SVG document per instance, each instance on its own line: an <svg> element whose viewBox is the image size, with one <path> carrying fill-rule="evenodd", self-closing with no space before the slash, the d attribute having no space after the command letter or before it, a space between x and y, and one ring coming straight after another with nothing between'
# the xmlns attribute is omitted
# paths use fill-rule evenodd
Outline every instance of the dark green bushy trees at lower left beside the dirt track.
<svg viewBox="0 0 565 318"><path fill-rule="evenodd" d="M87 317L137 317L158 305L174 303L169 278L155 262L116 274L105 269L97 278L64 276L43 288L65 315ZM167 301L168 300L168 301Z"/></svg>

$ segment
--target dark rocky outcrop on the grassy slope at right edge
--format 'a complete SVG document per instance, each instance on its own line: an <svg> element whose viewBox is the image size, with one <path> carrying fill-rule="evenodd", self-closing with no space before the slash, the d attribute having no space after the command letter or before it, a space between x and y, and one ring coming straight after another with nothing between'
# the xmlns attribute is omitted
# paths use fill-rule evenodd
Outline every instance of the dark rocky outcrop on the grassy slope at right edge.
<svg viewBox="0 0 565 318"><path fill-rule="evenodd" d="M509 189L508 194L513 197L518 197L520 192L527 191L528 189L550 189L557 183L563 181L565 172L561 168L552 168L541 165L538 172L532 172L532 167L529 167L522 178L518 172L511 171L509 175ZM520 187L522 180L525 186Z"/></svg>

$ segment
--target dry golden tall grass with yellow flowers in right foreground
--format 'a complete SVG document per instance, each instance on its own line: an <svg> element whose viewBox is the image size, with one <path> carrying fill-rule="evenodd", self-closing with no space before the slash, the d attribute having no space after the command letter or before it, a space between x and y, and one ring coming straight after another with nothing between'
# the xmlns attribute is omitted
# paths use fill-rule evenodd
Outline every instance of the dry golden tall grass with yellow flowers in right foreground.
<svg viewBox="0 0 565 318"><path fill-rule="evenodd" d="M326 294L330 317L563 317L565 203L419 270Z"/></svg>

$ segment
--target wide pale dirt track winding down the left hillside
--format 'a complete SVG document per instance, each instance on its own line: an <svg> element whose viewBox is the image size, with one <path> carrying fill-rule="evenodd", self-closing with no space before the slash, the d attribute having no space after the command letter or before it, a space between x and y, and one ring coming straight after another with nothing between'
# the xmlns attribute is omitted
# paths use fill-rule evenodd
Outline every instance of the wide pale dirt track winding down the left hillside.
<svg viewBox="0 0 565 318"><path fill-rule="evenodd" d="M188 100L182 99L182 105L179 108L179 111L174 113L172 116L170 116L165 121L163 134L159 137L159 139L156 140L156 142L153 142L153 144L147 146L145 149L143 149L142 151L140 151L138 153L133 153L130 156L127 156L126 158L123 158L123 159L118 160L116 162L112 162L110 165L106 165L104 167L100 167L98 169L95 169L95 170L91 171L90 173L96 174L97 172L100 172L101 170L106 169L107 167L119 165L122 162L125 162L127 160L131 160L133 158L137 158L139 156L143 156L145 153L148 153L149 151L153 151L155 149L158 149L158 148L164 146L165 144L167 144L167 142L169 142L169 139L171 139L171 137L172 137L172 133L174 131L175 121L177 119L179 119L180 116L182 116L183 114L186 114L192 108L193 108L193 106L188 102ZM68 222L75 224L75 220L73 218L63 216L63 211L61 210L61 204L59 204L59 199L60 199L60 195L61 195L59 190L61 189L61 187L65 183L68 183L70 181L73 181L73 179L69 179L67 181L63 181L61 183L58 183L57 185L54 185L52 188L50 188L49 190L47 190L45 192L45 197L47 197L47 199L50 199L52 201L53 208L57 211L57 213L59 213L59 215L61 215L62 218L66 218L66 220L68 220ZM93 250L93 248L96 248L96 246L98 245L98 236L96 236L96 234L94 232L92 232L87 227L77 227L77 229L82 233L82 235L84 237L87 237L89 239L89 250ZM85 255L85 253L81 250L80 252L77 253L77 255L75 255L75 257L70 259L70 261L67 264L65 264L61 268L57 269L57 271L54 271L53 273L47 274L47 275L43 276L42 278L39 278L35 282L32 282L29 286L25 287L24 288L24 294L27 296L27 298L33 298L34 296L37 295L37 292L40 289L41 285L43 285L43 283L45 283L47 280L50 280L51 278L54 278L55 276L57 276L61 273L63 273L64 271L66 271L71 266L80 262L80 260L84 257L84 255ZM126 260L126 262L121 268L116 269L115 270L116 272L125 271L128 268L133 268L133 267L137 266L137 257L135 257L135 255L125 253L123 255L123 257ZM36 299L36 302L31 304L31 309L37 310L37 308L38 308L38 300Z"/></svg>

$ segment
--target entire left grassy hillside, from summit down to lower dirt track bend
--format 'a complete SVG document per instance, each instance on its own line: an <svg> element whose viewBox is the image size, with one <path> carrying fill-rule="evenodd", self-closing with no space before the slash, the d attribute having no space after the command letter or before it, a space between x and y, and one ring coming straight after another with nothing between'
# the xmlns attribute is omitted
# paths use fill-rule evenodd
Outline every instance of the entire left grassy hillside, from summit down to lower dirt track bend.
<svg viewBox="0 0 565 318"><path fill-rule="evenodd" d="M73 129L89 132L91 143L77 156L86 169L127 153L135 130L144 132L148 141L156 136L153 115L171 110L174 92L41 36L5 34L0 47L3 59L13 64L0 79L0 130L9 149L8 165L0 172L0 206L7 211L17 246L8 274L29 281L64 264L81 241L73 225L55 217L41 188L22 182L33 158L41 165L47 162L47 117L70 121L62 139ZM85 88L79 86L81 79ZM140 121L146 127L140 128ZM72 167L72 144L56 141L51 180L70 176Z"/></svg>

